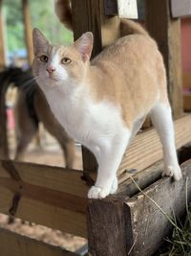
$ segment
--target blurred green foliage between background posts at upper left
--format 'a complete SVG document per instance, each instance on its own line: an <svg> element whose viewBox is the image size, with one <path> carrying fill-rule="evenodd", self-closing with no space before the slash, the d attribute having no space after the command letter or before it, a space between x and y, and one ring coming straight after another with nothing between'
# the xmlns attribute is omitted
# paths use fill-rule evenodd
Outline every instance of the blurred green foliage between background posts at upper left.
<svg viewBox="0 0 191 256"><path fill-rule="evenodd" d="M29 0L32 28L39 28L49 40L56 44L69 44L73 41L73 34L60 24L54 13L53 0ZM9 51L26 48L22 0L4 0L6 38Z"/></svg>

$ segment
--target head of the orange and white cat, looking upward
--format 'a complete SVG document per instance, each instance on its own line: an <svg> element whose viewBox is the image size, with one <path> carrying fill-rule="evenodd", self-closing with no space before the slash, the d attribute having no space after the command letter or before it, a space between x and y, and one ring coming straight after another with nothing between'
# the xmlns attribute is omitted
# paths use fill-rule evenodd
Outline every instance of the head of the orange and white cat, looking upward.
<svg viewBox="0 0 191 256"><path fill-rule="evenodd" d="M40 86L70 86L83 82L93 48L93 35L81 35L70 46L54 46L33 30L33 75Z"/></svg>

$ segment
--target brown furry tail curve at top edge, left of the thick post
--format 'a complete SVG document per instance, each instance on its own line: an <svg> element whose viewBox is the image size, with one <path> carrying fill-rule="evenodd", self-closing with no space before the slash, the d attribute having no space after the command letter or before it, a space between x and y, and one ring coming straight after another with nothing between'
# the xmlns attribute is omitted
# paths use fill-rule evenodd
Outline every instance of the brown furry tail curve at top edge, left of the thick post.
<svg viewBox="0 0 191 256"><path fill-rule="evenodd" d="M73 31L72 7L70 0L54 0L54 10L60 22Z"/></svg>

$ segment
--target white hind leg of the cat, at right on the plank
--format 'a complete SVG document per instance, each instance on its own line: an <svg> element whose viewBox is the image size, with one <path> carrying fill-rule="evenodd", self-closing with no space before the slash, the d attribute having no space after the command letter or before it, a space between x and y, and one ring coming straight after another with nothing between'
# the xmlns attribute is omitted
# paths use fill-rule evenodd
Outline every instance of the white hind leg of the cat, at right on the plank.
<svg viewBox="0 0 191 256"><path fill-rule="evenodd" d="M168 103L159 103L151 111L151 120L159 132L164 157L164 175L180 180L181 171L175 147L174 125L171 107Z"/></svg>

